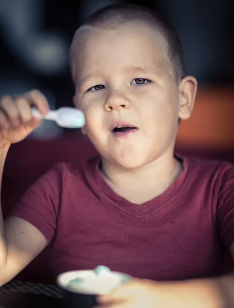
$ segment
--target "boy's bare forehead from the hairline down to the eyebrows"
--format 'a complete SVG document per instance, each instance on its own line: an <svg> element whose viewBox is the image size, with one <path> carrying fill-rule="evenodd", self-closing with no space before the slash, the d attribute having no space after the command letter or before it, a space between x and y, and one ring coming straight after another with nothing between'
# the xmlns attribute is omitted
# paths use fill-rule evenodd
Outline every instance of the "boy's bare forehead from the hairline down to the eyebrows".
<svg viewBox="0 0 234 308"><path fill-rule="evenodd" d="M131 74L136 68L139 73L141 69L158 75L171 74L163 40L147 27L131 24L111 29L94 28L78 38L73 57L76 84L100 70Z"/></svg>

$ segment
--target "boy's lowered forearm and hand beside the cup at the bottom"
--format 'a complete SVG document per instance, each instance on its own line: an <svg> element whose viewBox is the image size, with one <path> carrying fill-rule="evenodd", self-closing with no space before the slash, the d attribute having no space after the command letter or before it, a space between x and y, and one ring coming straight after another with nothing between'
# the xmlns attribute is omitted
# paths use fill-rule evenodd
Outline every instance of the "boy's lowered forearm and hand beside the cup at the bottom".
<svg viewBox="0 0 234 308"><path fill-rule="evenodd" d="M156 282L133 279L97 298L105 308L208 308L221 307L219 292L209 280ZM96 307L97 308L97 307Z"/></svg>

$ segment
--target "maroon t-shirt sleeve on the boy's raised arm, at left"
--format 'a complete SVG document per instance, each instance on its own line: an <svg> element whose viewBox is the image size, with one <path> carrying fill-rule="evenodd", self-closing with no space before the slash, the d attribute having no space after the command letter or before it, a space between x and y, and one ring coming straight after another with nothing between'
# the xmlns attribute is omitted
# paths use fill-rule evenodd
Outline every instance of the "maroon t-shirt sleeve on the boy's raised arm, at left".
<svg viewBox="0 0 234 308"><path fill-rule="evenodd" d="M48 244L57 229L64 165L57 164L47 171L26 191L10 213L10 216L22 218L36 227Z"/></svg>

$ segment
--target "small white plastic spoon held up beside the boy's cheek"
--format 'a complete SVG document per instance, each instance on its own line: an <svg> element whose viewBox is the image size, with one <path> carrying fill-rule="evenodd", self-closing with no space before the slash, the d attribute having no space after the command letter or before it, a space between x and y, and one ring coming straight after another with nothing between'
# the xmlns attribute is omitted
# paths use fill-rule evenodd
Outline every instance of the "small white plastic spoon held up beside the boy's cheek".
<svg viewBox="0 0 234 308"><path fill-rule="evenodd" d="M59 126L66 128L80 128L85 124L84 113L72 107L50 110L46 115L41 114L37 109L32 109L32 115L34 118L56 121Z"/></svg>

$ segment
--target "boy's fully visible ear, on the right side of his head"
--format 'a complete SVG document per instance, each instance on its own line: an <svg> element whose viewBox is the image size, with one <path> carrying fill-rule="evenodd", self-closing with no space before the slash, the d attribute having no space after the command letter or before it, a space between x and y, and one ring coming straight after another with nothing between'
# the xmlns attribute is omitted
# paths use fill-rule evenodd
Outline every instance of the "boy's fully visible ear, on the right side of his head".
<svg viewBox="0 0 234 308"><path fill-rule="evenodd" d="M191 117L197 91L197 81L192 76L186 76L179 84L179 114L181 120Z"/></svg>

